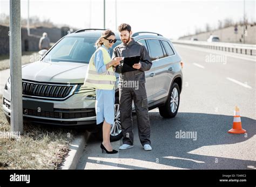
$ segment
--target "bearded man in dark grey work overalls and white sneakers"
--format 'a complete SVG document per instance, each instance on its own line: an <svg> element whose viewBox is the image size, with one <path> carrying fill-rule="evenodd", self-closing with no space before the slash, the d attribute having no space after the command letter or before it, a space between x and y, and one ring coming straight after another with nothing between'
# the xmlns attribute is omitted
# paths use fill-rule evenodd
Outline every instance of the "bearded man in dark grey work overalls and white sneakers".
<svg viewBox="0 0 256 187"><path fill-rule="evenodd" d="M150 70L152 62L145 46L139 44L131 38L132 31L129 24L121 24L118 27L122 44L113 49L112 59L114 57L140 56L140 62L134 63L134 71L124 73L123 68L127 66L122 63L116 67L116 73L119 73L119 103L120 119L123 132L123 145L120 150L133 147L132 131L132 100L134 102L140 143L144 150L152 150L150 141L150 120L149 106L147 104L147 95L145 89L145 73ZM138 88L122 87L125 82L138 82Z"/></svg>

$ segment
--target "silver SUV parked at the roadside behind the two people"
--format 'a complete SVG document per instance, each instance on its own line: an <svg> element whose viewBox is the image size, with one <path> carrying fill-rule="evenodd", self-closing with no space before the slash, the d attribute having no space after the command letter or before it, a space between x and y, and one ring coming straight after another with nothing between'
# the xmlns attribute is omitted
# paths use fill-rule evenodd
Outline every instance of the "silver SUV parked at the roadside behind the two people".
<svg viewBox="0 0 256 187"><path fill-rule="evenodd" d="M66 35L49 51L39 51L41 60L22 67L23 119L31 123L96 126L95 90L83 88L86 69L100 37L100 29L84 29ZM121 43L116 32L117 42ZM176 116L183 83L183 62L171 41L151 32L132 35L152 59L145 72L149 110L159 108L164 118ZM112 54L112 51L111 51ZM111 141L122 138L116 74L116 118ZM10 123L10 78L3 92L3 111ZM133 105L134 109L134 105ZM102 132L102 131L99 131Z"/></svg>

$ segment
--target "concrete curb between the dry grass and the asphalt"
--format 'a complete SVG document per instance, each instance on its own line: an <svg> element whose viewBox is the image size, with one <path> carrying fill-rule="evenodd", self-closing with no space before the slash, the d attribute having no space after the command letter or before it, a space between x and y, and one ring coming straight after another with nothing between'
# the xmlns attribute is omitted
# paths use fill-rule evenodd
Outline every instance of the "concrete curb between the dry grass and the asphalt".
<svg viewBox="0 0 256 187"><path fill-rule="evenodd" d="M76 169L77 163L83 154L84 147L90 136L90 132L85 131L84 134L78 134L75 139L71 142L69 148L70 152L65 158L60 169Z"/></svg>

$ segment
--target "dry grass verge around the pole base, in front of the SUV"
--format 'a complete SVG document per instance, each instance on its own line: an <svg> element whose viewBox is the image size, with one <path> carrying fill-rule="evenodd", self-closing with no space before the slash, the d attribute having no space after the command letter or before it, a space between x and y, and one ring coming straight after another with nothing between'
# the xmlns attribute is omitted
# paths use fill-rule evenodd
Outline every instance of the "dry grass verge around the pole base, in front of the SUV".
<svg viewBox="0 0 256 187"><path fill-rule="evenodd" d="M0 131L10 132L0 96ZM69 152L75 130L24 124L20 138L0 136L0 169L59 169Z"/></svg>

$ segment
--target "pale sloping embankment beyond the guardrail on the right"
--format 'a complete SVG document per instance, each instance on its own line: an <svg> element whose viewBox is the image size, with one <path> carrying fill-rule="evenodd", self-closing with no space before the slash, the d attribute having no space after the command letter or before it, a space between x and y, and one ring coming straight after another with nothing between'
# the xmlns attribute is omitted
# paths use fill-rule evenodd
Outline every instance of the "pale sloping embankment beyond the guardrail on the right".
<svg viewBox="0 0 256 187"><path fill-rule="evenodd" d="M243 41L241 35L243 33L243 27L238 26L238 33L234 33L234 27L227 27L223 28L221 30L215 30L211 32L204 32L200 34L194 34L194 35L189 35L186 37L180 37L179 39L185 39L185 40L190 40L191 38L197 38L200 41L206 41L210 35L218 35L220 38L221 42L230 42L230 43L241 43ZM256 44L256 25L247 26L247 35L245 36L245 44Z"/></svg>

